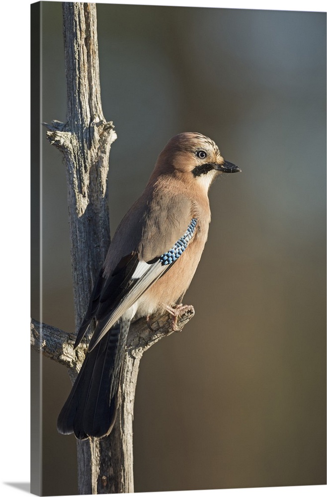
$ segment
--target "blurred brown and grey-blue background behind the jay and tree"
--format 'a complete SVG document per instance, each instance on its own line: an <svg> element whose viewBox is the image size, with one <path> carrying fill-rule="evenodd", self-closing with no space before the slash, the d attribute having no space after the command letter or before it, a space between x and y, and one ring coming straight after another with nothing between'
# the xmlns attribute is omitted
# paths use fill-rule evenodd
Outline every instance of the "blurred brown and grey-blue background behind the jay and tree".
<svg viewBox="0 0 327 497"><path fill-rule="evenodd" d="M210 190L209 240L184 298L195 317L143 357L135 491L325 484L326 14L97 13L102 106L118 134L111 232L176 133L211 137L243 171ZM41 32L42 121L65 121L59 2L42 2ZM73 331L65 170L42 139L42 319ZM70 379L50 360L42 370L43 494L74 495L76 441L56 430Z"/></svg>

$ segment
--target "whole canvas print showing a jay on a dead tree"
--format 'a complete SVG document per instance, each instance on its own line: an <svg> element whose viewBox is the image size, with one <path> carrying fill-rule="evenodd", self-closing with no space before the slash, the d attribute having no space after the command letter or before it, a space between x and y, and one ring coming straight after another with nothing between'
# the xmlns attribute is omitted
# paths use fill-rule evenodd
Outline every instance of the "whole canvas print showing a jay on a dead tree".
<svg viewBox="0 0 327 497"><path fill-rule="evenodd" d="M325 485L326 13L41 1L31 47L32 493Z"/></svg>

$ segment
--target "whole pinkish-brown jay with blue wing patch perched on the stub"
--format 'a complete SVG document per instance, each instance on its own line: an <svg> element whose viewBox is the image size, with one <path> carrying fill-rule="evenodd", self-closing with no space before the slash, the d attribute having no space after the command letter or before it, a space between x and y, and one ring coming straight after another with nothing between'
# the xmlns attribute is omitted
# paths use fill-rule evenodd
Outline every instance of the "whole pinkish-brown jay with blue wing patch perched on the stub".
<svg viewBox="0 0 327 497"><path fill-rule="evenodd" d="M199 133L180 133L167 143L118 226L94 285L75 347L93 318L96 327L59 414L60 433L80 439L110 433L131 320L165 310L176 318L173 306L181 302L207 240L209 186L218 174L238 171Z"/></svg>

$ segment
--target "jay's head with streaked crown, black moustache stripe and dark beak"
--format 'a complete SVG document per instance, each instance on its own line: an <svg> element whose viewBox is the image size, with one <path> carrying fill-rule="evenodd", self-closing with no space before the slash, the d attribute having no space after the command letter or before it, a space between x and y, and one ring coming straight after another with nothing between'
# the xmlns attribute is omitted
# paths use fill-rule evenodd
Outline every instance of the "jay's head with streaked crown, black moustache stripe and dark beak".
<svg viewBox="0 0 327 497"><path fill-rule="evenodd" d="M241 169L225 161L210 138L200 133L180 133L164 147L155 171L177 175L186 182L196 182L208 190L218 174L239 172Z"/></svg>

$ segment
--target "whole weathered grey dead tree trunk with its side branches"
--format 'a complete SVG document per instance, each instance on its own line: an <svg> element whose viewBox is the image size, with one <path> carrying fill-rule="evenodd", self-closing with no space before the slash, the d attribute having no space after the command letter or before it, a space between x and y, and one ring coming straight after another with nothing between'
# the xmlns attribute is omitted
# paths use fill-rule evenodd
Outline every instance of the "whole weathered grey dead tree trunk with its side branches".
<svg viewBox="0 0 327 497"><path fill-rule="evenodd" d="M107 173L116 133L104 119L99 83L96 7L63 3L67 75L67 122L46 124L47 138L63 154L67 172L76 330L86 311L97 272L109 247ZM180 329L193 316L178 320ZM79 493L128 493L133 486L133 407L143 352L172 332L168 315L135 322L129 333L120 389L121 406L109 436L78 440ZM90 330L91 332L92 330ZM32 320L32 348L69 368L75 381L87 345L74 350L75 336Z"/></svg>

